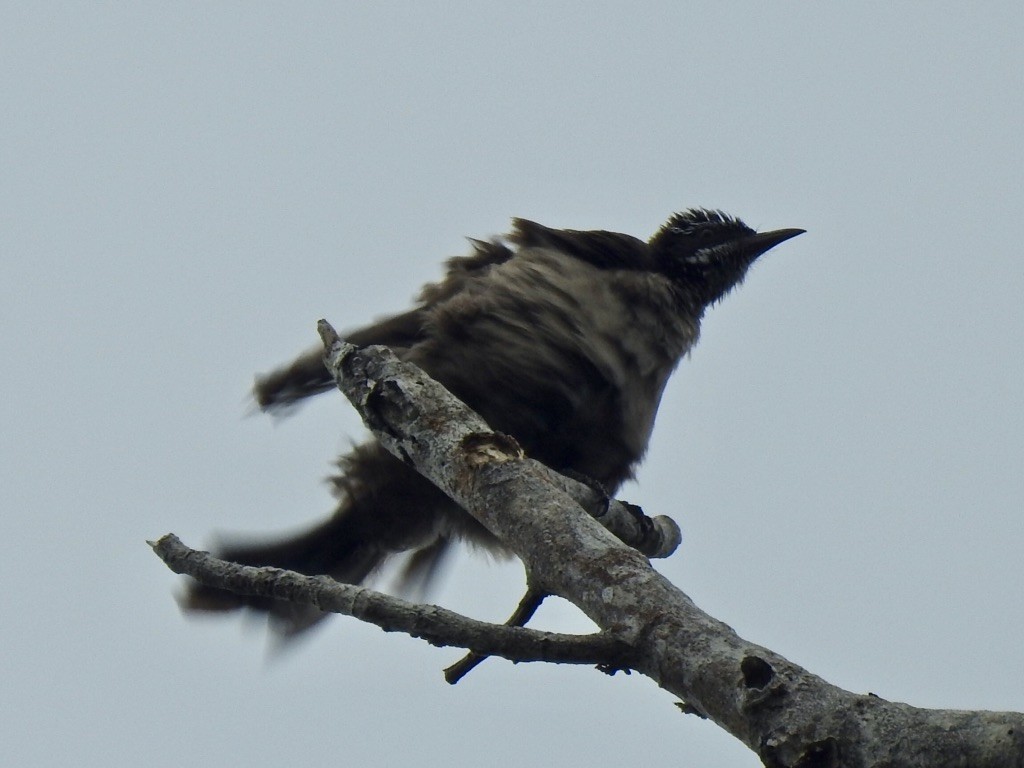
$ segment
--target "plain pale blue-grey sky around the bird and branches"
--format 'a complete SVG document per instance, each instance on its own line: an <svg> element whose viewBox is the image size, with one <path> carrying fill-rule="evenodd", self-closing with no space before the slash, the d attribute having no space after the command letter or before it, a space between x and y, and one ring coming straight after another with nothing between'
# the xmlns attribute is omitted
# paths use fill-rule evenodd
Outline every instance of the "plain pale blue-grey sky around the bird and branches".
<svg viewBox="0 0 1024 768"><path fill-rule="evenodd" d="M845 688L1024 710L1024 6L0 8L0 741L11 765L752 768L649 680L336 618L268 657L146 539L332 507L362 427L247 389L512 216L807 234L710 311L621 493L659 569ZM434 596L504 620L516 563ZM538 626L587 631L565 603Z"/></svg>

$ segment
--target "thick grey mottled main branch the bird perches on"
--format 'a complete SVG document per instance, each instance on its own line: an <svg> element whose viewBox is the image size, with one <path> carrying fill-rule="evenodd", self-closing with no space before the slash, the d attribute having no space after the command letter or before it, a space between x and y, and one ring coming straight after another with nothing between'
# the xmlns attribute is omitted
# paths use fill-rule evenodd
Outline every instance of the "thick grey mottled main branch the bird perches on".
<svg viewBox="0 0 1024 768"><path fill-rule="evenodd" d="M629 668L679 696L684 711L711 719L741 740L766 766L1024 765L1024 715L922 710L844 691L742 639L697 608L640 552L583 514L571 496L579 490L571 481L523 457L512 438L493 432L439 384L385 348L356 349L346 344L326 322L321 322L319 331L326 362L339 388L388 451L428 477L515 552L526 566L531 589L560 595L590 616L602 630L591 636L602 639L591 642L617 643L609 652L621 654ZM624 539L636 535L636 540L649 544L648 535L657 525L645 530L636 515L627 517L632 522L615 523L627 531ZM664 531L657 536L671 543L671 529L666 530L668 536ZM270 578L281 580L285 574L278 571ZM313 583L313 599L328 607L321 590L330 581ZM217 586L233 588L226 582ZM345 597L338 600L343 605L359 604L373 594L360 588L342 589ZM297 589L281 587L272 594L290 598ZM411 607L417 618L402 620L408 625L403 631L426 637L423 628L431 625L422 622L440 609L416 612ZM372 621L379 610L367 610L367 617ZM484 625L487 632L480 628L481 634L474 635L470 628L475 625L459 626L465 634L456 644L485 653L502 654L507 650L502 638L518 636L536 638L534 647L540 649L538 636L546 634ZM441 629L431 631L445 641L453 637ZM484 638L493 645L484 647ZM577 660L584 656L593 660L598 652L591 651L581 651ZM540 652L537 655L541 657Z"/></svg>

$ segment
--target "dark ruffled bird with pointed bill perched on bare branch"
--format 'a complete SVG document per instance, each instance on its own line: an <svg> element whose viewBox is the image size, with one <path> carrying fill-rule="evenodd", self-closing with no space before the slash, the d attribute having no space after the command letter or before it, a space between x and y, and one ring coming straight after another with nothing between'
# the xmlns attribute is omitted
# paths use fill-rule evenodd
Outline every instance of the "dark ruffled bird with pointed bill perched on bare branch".
<svg viewBox="0 0 1024 768"><path fill-rule="evenodd" d="M606 230L551 228L516 218L511 231L470 239L412 309L342 334L386 345L513 436L526 456L588 478L608 494L633 476L662 393L693 348L706 310L759 256L803 233L758 232L719 210L673 214L647 241ZM311 349L257 377L259 408L287 414L335 387ZM361 584L400 553L399 591L423 594L456 542L508 554L479 522L371 438L338 460L337 510L291 537L237 538L215 554ZM326 615L314 607L191 583L188 611L251 608L283 638Z"/></svg>

